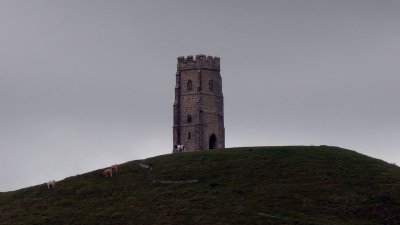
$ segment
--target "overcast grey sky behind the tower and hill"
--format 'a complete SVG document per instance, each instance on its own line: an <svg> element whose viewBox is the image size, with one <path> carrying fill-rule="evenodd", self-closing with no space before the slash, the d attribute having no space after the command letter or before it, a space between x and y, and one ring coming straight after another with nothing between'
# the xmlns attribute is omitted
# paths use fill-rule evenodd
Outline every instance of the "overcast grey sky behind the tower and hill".
<svg viewBox="0 0 400 225"><path fill-rule="evenodd" d="M400 164L400 1L0 0L0 191L172 150L176 58L221 58L226 146Z"/></svg>

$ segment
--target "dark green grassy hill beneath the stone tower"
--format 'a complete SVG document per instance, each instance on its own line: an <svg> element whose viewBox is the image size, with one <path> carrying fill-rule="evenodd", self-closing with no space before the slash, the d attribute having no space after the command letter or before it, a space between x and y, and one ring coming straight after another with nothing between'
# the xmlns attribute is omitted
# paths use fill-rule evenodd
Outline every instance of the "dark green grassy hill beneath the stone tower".
<svg viewBox="0 0 400 225"><path fill-rule="evenodd" d="M400 168L337 147L199 151L101 171L0 193L0 224L400 224Z"/></svg>

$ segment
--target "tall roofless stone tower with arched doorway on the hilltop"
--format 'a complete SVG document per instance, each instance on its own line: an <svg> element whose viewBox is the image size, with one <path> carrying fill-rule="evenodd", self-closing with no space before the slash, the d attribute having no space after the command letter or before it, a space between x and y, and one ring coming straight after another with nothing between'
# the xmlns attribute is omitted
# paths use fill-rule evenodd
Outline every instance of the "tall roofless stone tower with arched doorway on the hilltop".
<svg viewBox="0 0 400 225"><path fill-rule="evenodd" d="M174 102L174 150L225 147L224 98L218 57L178 57Z"/></svg>

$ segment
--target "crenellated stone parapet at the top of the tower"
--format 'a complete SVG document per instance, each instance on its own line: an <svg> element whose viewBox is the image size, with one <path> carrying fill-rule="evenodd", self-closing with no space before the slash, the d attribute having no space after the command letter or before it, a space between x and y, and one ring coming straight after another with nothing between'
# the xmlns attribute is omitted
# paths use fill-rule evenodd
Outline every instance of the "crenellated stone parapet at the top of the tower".
<svg viewBox="0 0 400 225"><path fill-rule="evenodd" d="M220 58L206 55L178 57L178 70L210 69L220 71Z"/></svg>

